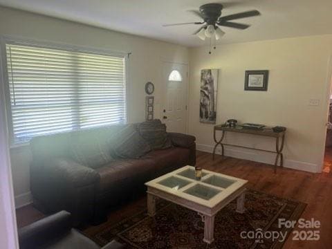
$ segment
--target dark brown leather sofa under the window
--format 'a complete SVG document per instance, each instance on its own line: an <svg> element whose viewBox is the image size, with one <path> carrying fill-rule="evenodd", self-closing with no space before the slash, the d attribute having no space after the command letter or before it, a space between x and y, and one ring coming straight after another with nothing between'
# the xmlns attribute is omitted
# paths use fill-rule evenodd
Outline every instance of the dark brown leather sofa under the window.
<svg viewBox="0 0 332 249"><path fill-rule="evenodd" d="M35 207L45 213L71 212L74 225L100 223L106 219L107 208L145 190L145 182L196 163L195 137L182 133L167 133L172 147L152 150L138 159L119 158L91 168L71 157L77 133L107 141L121 129L118 125L34 138L30 185Z"/></svg>

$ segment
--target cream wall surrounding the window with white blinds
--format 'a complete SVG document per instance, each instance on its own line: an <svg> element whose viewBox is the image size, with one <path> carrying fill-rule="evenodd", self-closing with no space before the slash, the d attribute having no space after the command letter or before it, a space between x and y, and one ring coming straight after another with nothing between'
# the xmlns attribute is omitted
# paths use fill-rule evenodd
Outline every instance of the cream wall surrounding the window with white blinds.
<svg viewBox="0 0 332 249"><path fill-rule="evenodd" d="M144 86L148 81L155 84L155 116L160 118L162 61L187 63L189 59L189 51L183 46L3 7L0 7L0 34L131 52L128 86L129 122L145 119ZM16 205L19 206L30 201L30 151L26 147L11 149L11 159Z"/></svg>

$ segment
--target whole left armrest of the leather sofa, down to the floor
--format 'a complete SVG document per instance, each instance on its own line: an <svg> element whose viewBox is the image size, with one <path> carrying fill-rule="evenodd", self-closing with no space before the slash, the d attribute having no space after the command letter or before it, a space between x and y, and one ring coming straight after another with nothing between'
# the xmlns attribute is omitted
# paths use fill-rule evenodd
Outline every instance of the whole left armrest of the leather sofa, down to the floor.
<svg viewBox="0 0 332 249"><path fill-rule="evenodd" d="M73 225L91 219L100 174L70 158L33 160L30 190L34 205L44 212L71 212Z"/></svg>

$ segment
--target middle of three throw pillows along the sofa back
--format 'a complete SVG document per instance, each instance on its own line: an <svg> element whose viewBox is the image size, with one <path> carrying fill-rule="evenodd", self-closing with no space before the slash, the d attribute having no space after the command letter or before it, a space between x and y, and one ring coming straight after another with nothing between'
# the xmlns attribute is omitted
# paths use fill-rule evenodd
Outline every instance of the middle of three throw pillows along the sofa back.
<svg viewBox="0 0 332 249"><path fill-rule="evenodd" d="M113 155L118 158L140 158L151 150L151 147L136 131L133 124L129 124L109 140Z"/></svg>

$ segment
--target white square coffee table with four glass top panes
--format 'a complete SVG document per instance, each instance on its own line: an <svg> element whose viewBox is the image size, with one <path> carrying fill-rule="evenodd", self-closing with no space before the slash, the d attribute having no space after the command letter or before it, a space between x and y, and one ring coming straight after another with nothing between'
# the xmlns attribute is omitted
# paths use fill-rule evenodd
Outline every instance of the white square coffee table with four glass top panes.
<svg viewBox="0 0 332 249"><path fill-rule="evenodd" d="M201 181L196 181L194 167L176 169L147 185L147 212L156 214L156 196L194 210L204 222L206 243L214 241L214 216L225 205L237 198L237 212L244 212L248 181L203 169Z"/></svg>

